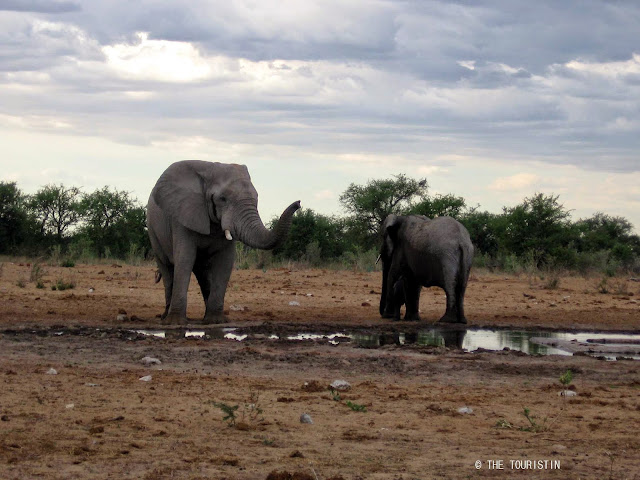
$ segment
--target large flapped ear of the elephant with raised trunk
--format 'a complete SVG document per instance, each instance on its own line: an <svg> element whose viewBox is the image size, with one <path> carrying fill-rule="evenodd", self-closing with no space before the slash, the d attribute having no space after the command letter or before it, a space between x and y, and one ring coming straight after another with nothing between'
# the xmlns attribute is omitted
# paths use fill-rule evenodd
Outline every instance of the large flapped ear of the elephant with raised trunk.
<svg viewBox="0 0 640 480"><path fill-rule="evenodd" d="M206 163L176 162L164 171L153 189L153 199L164 212L203 235L211 233L203 177Z"/></svg>

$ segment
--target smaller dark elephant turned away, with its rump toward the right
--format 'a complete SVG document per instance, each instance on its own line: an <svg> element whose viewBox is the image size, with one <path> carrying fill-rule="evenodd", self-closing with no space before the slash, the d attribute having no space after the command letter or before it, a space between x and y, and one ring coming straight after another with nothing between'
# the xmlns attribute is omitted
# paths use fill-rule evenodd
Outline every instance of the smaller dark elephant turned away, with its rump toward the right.
<svg viewBox="0 0 640 480"><path fill-rule="evenodd" d="M380 315L400 319L396 282L401 279L405 320L420 320L420 290L423 286L436 286L447 295L447 308L439 321L467 323L464 293L473 260L467 229L450 217L431 220L421 215L389 215L382 224L382 233Z"/></svg>

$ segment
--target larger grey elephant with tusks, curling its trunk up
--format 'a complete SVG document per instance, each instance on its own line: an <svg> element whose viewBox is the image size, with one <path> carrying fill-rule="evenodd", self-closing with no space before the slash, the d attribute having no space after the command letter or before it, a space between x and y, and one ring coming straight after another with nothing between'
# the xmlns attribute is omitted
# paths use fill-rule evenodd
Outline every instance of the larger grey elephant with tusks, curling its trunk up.
<svg viewBox="0 0 640 480"><path fill-rule="evenodd" d="M147 227L165 291L166 323L187 323L193 272L206 305L204 323L225 321L224 296L235 260L235 241L272 249L284 241L294 202L273 230L258 214L258 193L244 165L185 160L158 179L147 205Z"/></svg>

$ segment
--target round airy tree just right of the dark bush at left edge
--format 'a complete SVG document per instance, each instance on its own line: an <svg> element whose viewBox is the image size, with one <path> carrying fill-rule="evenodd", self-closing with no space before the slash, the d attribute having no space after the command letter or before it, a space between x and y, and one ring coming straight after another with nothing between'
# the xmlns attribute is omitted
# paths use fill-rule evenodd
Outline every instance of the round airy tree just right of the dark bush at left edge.
<svg viewBox="0 0 640 480"><path fill-rule="evenodd" d="M64 185L45 185L28 200L29 210L38 222L40 234L53 235L58 243L79 221L80 189Z"/></svg>

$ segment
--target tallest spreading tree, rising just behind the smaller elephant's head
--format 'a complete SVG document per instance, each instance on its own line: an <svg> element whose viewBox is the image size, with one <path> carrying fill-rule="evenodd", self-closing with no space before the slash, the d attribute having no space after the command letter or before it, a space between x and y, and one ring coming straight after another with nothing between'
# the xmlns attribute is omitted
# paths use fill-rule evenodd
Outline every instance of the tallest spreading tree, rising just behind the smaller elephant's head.
<svg viewBox="0 0 640 480"><path fill-rule="evenodd" d="M426 198L428 188L425 179L394 175L393 179L369 180L366 185L352 183L340 195L340 203L350 220L364 227L369 239L375 242L387 215L408 212L417 200Z"/></svg>

